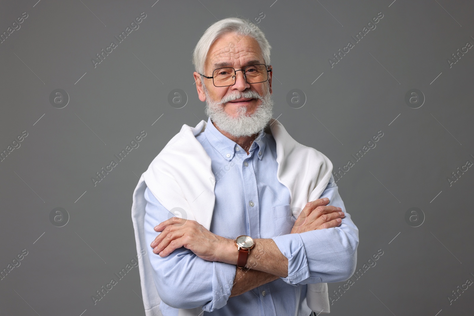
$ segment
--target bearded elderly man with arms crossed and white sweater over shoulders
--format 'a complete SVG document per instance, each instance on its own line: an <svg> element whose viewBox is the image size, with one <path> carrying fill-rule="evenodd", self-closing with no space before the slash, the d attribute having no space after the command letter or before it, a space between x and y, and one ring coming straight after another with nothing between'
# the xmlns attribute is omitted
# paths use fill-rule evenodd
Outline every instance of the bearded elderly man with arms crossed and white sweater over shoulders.
<svg viewBox="0 0 474 316"><path fill-rule="evenodd" d="M134 192L147 316L328 313L326 282L355 271L358 230L332 163L272 118L270 48L225 18L194 49L209 119L183 125Z"/></svg>

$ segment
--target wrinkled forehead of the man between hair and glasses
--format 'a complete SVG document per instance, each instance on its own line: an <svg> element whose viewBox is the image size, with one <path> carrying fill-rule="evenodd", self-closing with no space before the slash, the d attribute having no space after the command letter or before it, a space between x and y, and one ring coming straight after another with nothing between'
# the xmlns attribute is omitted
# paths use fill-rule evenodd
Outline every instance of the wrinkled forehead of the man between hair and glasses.
<svg viewBox="0 0 474 316"><path fill-rule="evenodd" d="M213 71L221 67L241 68L255 63L264 63L262 51L255 38L228 33L210 46L205 68Z"/></svg>

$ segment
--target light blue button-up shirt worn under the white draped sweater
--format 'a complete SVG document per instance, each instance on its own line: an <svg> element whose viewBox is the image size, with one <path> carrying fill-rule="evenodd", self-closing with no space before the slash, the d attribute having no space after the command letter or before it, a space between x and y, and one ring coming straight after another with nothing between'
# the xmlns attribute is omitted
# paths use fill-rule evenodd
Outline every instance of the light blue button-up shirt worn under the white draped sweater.
<svg viewBox="0 0 474 316"><path fill-rule="evenodd" d="M210 231L229 239L238 235L272 238L288 258L288 276L229 298L235 265L206 261L184 247L162 258L150 247L148 257L155 271L163 315L178 316L178 308L198 306L202 306L204 316L310 315L306 284L345 281L356 269L358 229L346 213L333 176L320 198L329 198L328 205L342 208L346 216L341 225L290 234L295 217L291 214L290 192L276 177L273 136L262 129L247 155L209 118L196 139L210 156L216 177ZM148 188L145 199L145 237L151 244L159 234L154 227L173 214Z"/></svg>

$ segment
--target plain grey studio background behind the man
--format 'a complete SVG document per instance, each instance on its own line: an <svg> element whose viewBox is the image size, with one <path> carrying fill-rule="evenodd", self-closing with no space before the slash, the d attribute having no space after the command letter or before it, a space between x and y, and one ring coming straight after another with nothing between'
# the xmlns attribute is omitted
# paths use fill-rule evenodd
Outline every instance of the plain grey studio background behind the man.
<svg viewBox="0 0 474 316"><path fill-rule="evenodd" d="M447 59L474 43L474 2L36 1L0 4L1 33L28 14L0 44L0 150L28 133L0 163L0 269L28 251L0 281L0 314L145 315L137 267L97 305L91 296L137 254L138 176L183 124L207 120L194 46L218 19L256 23L260 12L273 46L274 117L294 139L337 170L383 132L337 186L359 228L357 270L384 253L331 315L472 313L472 286L452 305L447 297L474 280L474 170L452 186L447 177L474 162L474 49L451 68ZM139 28L94 68L91 58L141 12ZM331 68L378 12L376 28ZM69 94L65 108L50 104L55 89ZM183 108L168 103L173 89L187 94ZM302 108L286 103L292 89L304 91ZM410 89L423 92L420 108L405 103ZM94 187L91 177L142 130L139 147ZM63 227L49 220L57 207L70 216ZM419 227L405 221L412 207L424 213Z"/></svg>

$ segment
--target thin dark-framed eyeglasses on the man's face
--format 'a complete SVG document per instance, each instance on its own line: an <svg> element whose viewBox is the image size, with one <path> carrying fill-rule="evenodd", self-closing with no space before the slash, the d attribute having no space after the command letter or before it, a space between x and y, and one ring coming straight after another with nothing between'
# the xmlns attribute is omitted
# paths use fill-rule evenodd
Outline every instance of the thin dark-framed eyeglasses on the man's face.
<svg viewBox="0 0 474 316"><path fill-rule="evenodd" d="M204 76L201 73L200 75L208 79L212 78L212 82L216 87L228 87L233 86L236 83L236 72L238 71L244 73L244 78L247 83L260 83L267 81L268 72L271 72L272 70L267 70L266 67L265 64L258 63L237 70L232 67L218 68L212 72L212 77Z"/></svg>

